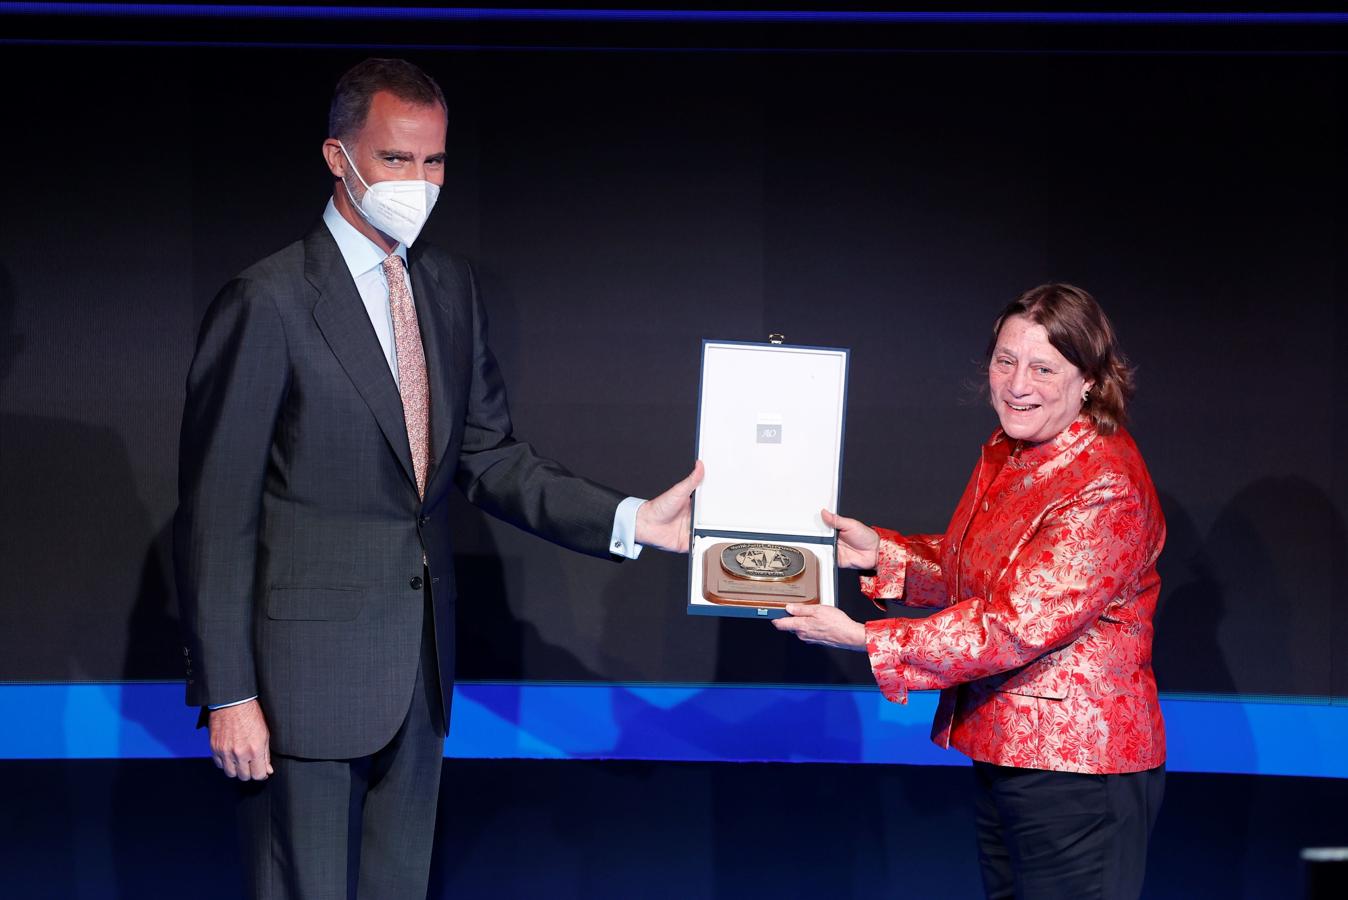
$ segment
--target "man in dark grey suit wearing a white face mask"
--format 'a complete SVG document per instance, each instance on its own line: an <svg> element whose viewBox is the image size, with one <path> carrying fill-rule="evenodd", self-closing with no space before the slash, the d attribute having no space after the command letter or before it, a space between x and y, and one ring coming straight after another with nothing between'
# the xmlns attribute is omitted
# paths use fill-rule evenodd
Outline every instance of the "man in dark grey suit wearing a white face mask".
<svg viewBox="0 0 1348 900"><path fill-rule="evenodd" d="M514 438L472 269L408 249L443 182L429 75L360 63L329 132L322 222L225 286L187 380L187 702L248 783L255 896L345 897L355 808L359 896L418 897L453 691L450 488L580 552L635 556L686 550L701 469L643 503Z"/></svg>

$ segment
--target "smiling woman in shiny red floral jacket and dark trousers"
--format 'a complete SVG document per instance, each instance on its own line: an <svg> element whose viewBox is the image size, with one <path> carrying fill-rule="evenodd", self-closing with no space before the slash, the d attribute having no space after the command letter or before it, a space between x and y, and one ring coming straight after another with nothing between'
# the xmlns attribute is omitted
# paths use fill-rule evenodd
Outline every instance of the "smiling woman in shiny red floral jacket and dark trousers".
<svg viewBox="0 0 1348 900"><path fill-rule="evenodd" d="M776 620L864 651L884 695L941 690L931 738L973 760L989 897L1136 897L1166 741L1151 672L1165 520L1123 428L1132 375L1100 306L1070 284L998 317L988 389L1002 427L944 535L825 511L861 590L930 606L856 622L830 606Z"/></svg>

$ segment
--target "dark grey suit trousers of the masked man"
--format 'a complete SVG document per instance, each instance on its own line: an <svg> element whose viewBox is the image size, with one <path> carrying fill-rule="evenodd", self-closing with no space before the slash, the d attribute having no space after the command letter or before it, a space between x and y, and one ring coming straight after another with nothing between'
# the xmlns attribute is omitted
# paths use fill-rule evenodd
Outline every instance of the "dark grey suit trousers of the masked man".
<svg viewBox="0 0 1348 900"><path fill-rule="evenodd" d="M272 754L271 777L240 785L248 896L426 896L445 753L429 593L411 705L394 738L355 760Z"/></svg>

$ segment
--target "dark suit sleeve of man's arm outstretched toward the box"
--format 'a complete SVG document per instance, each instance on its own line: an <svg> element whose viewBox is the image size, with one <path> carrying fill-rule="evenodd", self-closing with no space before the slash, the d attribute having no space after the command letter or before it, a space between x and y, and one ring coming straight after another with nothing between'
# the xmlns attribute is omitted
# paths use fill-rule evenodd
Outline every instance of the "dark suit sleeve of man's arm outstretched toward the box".
<svg viewBox="0 0 1348 900"><path fill-rule="evenodd" d="M472 383L454 481L474 505L557 544L609 555L613 513L625 497L572 474L515 439L496 357L487 344L487 314L468 269L473 321Z"/></svg>

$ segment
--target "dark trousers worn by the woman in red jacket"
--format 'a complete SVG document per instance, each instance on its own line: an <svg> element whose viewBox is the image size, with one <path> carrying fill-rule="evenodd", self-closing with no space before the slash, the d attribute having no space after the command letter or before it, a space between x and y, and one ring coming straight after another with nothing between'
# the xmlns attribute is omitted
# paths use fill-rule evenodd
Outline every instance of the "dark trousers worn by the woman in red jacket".
<svg viewBox="0 0 1348 900"><path fill-rule="evenodd" d="M1082 775L975 763L988 897L1136 900L1165 767Z"/></svg>

